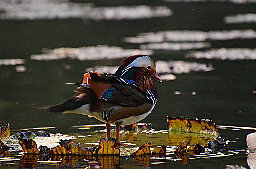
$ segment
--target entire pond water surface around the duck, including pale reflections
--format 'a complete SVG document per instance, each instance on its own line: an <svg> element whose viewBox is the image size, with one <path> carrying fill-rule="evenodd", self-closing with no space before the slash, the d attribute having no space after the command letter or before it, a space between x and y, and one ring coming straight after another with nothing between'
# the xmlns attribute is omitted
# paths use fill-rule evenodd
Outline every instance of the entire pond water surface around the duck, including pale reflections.
<svg viewBox="0 0 256 169"><path fill-rule="evenodd" d="M47 139L37 138L39 145L73 138L84 146L97 146L99 139L105 137L105 127L83 125L99 121L82 115L48 114L44 108L72 97L74 86L64 83L79 83L85 71L113 71L122 58L134 52L149 52L157 64L162 63L159 74L166 81L156 82L157 105L142 122L152 123L155 131L164 131L122 133L121 140L134 144L129 148L151 142L152 147L164 144L170 149L166 159L121 155L120 159L95 160L80 156L56 158L51 163L12 151L0 154L0 166L87 167L108 161L105 168L249 168L245 139L256 127L256 24L255 16L248 16L256 13L254 0L112 1L113 4L58 1L63 6L45 1L41 12L50 5L51 15L29 11L34 5L29 6L29 2L20 0L20 6L16 1L0 2L4 3L0 7L0 126L9 122L11 134L24 129L43 129L52 134ZM5 3L11 5L6 7ZM24 9L24 4L28 13L13 13L17 7ZM67 13L63 7L73 12L87 11ZM147 15L136 13L138 9ZM128 37L137 38L133 39L136 43L129 42ZM221 135L231 141L228 150L207 158L189 156L190 164L181 164L171 148L183 139L166 133L167 115L214 120Z"/></svg>

